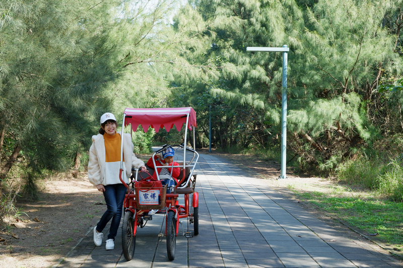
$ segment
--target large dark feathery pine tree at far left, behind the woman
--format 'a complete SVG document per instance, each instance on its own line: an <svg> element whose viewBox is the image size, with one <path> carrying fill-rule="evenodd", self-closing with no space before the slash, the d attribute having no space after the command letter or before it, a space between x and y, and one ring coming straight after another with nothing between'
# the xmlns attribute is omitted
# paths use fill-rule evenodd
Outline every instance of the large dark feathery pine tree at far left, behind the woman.
<svg viewBox="0 0 403 268"><path fill-rule="evenodd" d="M110 105L99 97L119 76L104 27L117 3L2 1L0 192L17 159L31 180L68 170L89 146L95 118Z"/></svg>

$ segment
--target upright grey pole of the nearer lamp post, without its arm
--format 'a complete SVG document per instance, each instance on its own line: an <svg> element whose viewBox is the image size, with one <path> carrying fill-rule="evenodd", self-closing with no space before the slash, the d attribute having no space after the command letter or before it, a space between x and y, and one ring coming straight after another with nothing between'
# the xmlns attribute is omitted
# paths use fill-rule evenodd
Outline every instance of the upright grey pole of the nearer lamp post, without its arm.
<svg viewBox="0 0 403 268"><path fill-rule="evenodd" d="M287 46L284 45L284 48ZM283 52L283 97L281 105L281 175L280 178L286 178L287 164L287 51Z"/></svg>

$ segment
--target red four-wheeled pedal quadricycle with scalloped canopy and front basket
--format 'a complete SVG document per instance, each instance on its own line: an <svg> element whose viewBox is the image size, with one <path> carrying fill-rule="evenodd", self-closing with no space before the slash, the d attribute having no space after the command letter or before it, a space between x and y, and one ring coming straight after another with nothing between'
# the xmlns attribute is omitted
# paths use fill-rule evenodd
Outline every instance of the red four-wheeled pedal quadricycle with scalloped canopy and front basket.
<svg viewBox="0 0 403 268"><path fill-rule="evenodd" d="M124 217L122 225L122 248L123 255L126 260L131 260L136 248L137 227L143 228L148 220L152 220L152 216L148 213L150 210L157 210L157 213L165 214L165 235L167 240L168 259L175 258L176 236L179 233L179 220L188 218L189 223L193 224L193 233L186 232L186 237L198 234L198 193L194 191L196 183L196 174L194 168L198 160L198 153L195 151L195 127L196 113L193 108L157 108L157 109L133 109L126 108L123 113L122 130L131 125L130 131L137 131L139 125L145 132L149 127L158 132L161 128L169 132L176 127L181 131L184 128L184 142L181 145L164 145L154 155L164 150L166 146L171 146L176 155L182 157L183 161L179 162L180 176L178 184L171 191L167 192L167 186L162 186L159 181L157 170L157 179L153 179L149 172L138 172L132 170L131 182L129 185L122 180L123 157L120 159L120 181L127 187L127 194L124 199ZM188 147L187 136L192 136L192 147ZM123 142L122 142L123 144ZM123 148L121 148L121 154ZM154 157L153 155L153 157ZM157 166L157 165L155 165ZM157 166L157 168L169 168L172 166ZM177 166L176 166L177 167ZM151 170L153 171L153 170ZM180 200L184 200L184 204L179 204ZM190 203L190 204L189 204Z"/></svg>

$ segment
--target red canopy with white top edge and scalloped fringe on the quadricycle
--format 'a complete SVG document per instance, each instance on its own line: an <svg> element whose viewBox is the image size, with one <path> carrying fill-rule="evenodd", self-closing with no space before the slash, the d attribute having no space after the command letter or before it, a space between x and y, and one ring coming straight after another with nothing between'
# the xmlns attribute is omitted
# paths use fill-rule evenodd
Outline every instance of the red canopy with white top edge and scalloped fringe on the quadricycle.
<svg viewBox="0 0 403 268"><path fill-rule="evenodd" d="M142 125L144 132L147 132L149 127L158 132L161 128L169 132L175 125L178 131L181 130L183 124L186 123L186 118L189 117L187 128L192 130L196 127L196 112L191 107L185 108L149 108L137 109L126 108L124 110L125 122L127 127L131 124L131 129L136 131L139 125Z"/></svg>

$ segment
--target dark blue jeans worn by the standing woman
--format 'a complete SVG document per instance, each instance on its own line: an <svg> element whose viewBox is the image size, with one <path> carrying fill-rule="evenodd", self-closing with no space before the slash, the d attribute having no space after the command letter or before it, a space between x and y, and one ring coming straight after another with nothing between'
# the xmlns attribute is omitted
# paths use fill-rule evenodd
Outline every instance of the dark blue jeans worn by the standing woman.
<svg viewBox="0 0 403 268"><path fill-rule="evenodd" d="M107 210L102 215L97 224L97 231L102 232L106 224L112 219L108 239L115 240L120 218L122 217L122 207L127 188L123 184L105 185L104 198Z"/></svg>

